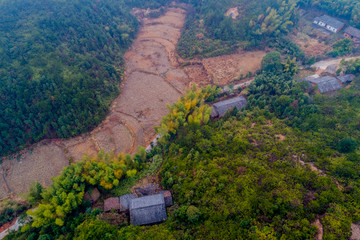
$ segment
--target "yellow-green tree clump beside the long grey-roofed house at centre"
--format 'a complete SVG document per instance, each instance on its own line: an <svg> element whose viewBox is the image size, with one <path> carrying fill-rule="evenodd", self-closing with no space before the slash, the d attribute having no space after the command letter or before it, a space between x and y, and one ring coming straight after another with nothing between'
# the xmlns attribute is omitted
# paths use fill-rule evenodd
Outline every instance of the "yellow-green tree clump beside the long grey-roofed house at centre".
<svg viewBox="0 0 360 240"><path fill-rule="evenodd" d="M170 134L175 134L178 128L184 124L207 123L210 119L211 108L204 103L217 93L216 87L207 86L197 89L194 86L192 91L181 97L180 101L168 106L169 114L163 117L161 126L156 129L157 132L166 138Z"/></svg>

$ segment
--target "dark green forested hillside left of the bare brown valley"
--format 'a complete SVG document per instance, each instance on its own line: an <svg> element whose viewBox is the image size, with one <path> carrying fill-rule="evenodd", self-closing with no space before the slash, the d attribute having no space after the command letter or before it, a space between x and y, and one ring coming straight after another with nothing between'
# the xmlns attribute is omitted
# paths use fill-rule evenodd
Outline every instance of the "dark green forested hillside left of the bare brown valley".
<svg viewBox="0 0 360 240"><path fill-rule="evenodd" d="M138 28L128 5L1 1L0 155L88 131L105 117Z"/></svg>

